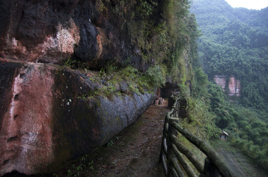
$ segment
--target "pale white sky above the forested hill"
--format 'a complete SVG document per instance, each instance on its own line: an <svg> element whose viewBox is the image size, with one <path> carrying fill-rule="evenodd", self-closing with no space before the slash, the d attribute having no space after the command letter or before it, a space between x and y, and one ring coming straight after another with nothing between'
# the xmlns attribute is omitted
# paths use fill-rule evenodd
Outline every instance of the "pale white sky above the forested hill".
<svg viewBox="0 0 268 177"><path fill-rule="evenodd" d="M260 10L268 6L268 0L226 0L232 7Z"/></svg>

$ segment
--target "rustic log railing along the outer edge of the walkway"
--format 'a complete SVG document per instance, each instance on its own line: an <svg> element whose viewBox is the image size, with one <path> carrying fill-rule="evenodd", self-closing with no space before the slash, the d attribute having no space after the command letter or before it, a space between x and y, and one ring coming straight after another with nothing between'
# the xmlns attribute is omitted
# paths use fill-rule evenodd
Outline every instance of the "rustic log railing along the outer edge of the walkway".
<svg viewBox="0 0 268 177"><path fill-rule="evenodd" d="M200 173L200 177L235 177L227 162L213 148L180 125L179 113L182 98L179 97L179 94L171 93L170 99L175 99L175 103L172 106L172 110L166 114L159 158L165 175L167 177L185 177L185 172L188 177L197 177L182 155L184 154ZM206 154L207 158L204 162L198 160L195 154L178 140L178 133L181 133Z"/></svg>

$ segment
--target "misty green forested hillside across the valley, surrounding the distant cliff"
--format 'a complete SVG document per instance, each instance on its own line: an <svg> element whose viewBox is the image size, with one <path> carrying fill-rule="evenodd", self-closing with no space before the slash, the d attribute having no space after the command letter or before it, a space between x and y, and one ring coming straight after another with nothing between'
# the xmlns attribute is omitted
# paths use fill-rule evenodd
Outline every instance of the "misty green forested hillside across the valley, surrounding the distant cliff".
<svg viewBox="0 0 268 177"><path fill-rule="evenodd" d="M239 98L208 85L203 95L213 120L230 133L234 146L268 169L268 7L248 10L225 0L194 0L191 12L202 33L198 55L209 80L225 75L241 82Z"/></svg>

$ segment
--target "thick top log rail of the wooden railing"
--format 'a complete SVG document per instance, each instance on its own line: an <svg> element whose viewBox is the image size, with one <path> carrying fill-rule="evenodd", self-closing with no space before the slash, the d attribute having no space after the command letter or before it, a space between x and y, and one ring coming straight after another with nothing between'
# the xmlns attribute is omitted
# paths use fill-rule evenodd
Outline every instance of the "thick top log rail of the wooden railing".
<svg viewBox="0 0 268 177"><path fill-rule="evenodd" d="M202 152L204 152L209 161L215 164L217 170L223 177L235 177L235 174L232 172L231 168L226 164L226 162L220 157L220 155L211 148L205 141L200 140L199 138L193 136L185 128L182 128L178 123L173 122L173 127L177 129L181 134L185 136L192 144L198 147Z"/></svg>

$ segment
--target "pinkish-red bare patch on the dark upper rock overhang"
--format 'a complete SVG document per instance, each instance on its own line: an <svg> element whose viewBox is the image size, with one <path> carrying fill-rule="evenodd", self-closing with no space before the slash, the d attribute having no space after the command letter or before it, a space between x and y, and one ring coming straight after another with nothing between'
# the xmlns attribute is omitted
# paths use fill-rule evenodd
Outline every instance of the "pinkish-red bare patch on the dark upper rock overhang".
<svg viewBox="0 0 268 177"><path fill-rule="evenodd" d="M5 38L6 45L2 57L30 62L60 63L62 59L70 58L80 40L79 28L70 20L70 26L64 28L61 24L56 27L55 35L47 35L42 43L32 49L23 45L23 41L9 36Z"/></svg>

